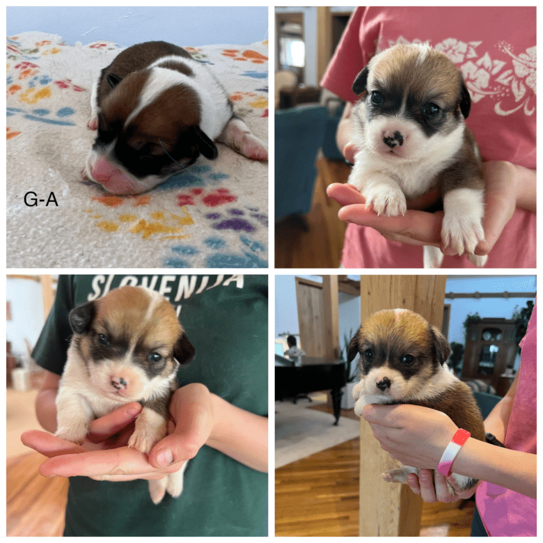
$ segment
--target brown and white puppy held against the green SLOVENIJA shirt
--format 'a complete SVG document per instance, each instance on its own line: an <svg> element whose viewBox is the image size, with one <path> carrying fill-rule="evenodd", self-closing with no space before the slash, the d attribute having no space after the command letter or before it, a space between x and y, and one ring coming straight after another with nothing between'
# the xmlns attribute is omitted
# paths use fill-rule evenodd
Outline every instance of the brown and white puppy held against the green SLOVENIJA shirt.
<svg viewBox="0 0 543 543"><path fill-rule="evenodd" d="M166 436L180 364L194 358L173 306L158 292L123 287L70 311L74 332L56 395L56 436L82 443L88 424L129 402L142 406L129 447L148 454ZM154 503L177 498L183 472L149 481Z"/></svg>

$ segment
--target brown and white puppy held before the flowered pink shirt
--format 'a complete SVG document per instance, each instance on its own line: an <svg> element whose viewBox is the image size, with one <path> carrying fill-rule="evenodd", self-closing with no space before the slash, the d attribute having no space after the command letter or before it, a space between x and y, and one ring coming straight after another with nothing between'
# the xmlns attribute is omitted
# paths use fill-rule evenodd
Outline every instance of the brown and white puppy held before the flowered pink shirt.
<svg viewBox="0 0 543 543"><path fill-rule="evenodd" d="M474 255L482 230L485 182L473 134L464 119L471 97L462 73L429 45L395 45L374 56L352 89L361 95L352 110L359 148L349 183L377 214L405 214L406 198L441 189L441 239L455 253ZM439 267L439 247L425 246L424 266Z"/></svg>

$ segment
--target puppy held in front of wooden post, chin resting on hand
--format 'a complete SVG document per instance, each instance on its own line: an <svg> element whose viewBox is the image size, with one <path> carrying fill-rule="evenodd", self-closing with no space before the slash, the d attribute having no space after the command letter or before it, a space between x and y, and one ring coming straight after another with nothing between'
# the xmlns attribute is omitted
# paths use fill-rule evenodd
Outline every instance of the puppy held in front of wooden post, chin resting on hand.
<svg viewBox="0 0 543 543"><path fill-rule="evenodd" d="M471 436L485 441L482 416L471 389L457 379L446 361L450 346L443 334L407 309L383 310L363 322L349 344L347 360L360 354L361 380L354 386L354 412L367 404L413 404L448 415ZM418 469L402 466L383 473L389 482L406 482ZM453 473L461 489L476 480Z"/></svg>

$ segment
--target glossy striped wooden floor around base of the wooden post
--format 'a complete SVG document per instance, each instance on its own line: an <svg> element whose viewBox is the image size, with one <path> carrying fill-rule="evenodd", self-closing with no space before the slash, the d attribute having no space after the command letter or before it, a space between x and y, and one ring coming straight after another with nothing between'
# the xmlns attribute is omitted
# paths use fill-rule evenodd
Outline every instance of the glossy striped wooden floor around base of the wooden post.
<svg viewBox="0 0 543 543"><path fill-rule="evenodd" d="M310 409L331 412L326 405ZM352 409L341 416L358 418ZM358 536L359 462L357 438L276 469L276 535ZM473 501L424 503L420 535L469 537L474 507Z"/></svg>

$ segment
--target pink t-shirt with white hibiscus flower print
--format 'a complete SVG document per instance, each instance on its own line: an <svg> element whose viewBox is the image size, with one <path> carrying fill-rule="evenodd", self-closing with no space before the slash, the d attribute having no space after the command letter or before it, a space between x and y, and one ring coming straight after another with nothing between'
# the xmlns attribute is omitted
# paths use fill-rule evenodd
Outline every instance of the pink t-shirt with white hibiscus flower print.
<svg viewBox="0 0 543 543"><path fill-rule="evenodd" d="M471 94L466 120L487 160L535 169L535 7L356 8L321 85L355 102L351 86L376 49L428 42L457 65ZM487 268L535 267L535 214L515 210L489 254ZM349 224L346 268L423 267L423 248L390 242ZM446 256L442 267L473 267Z"/></svg>

